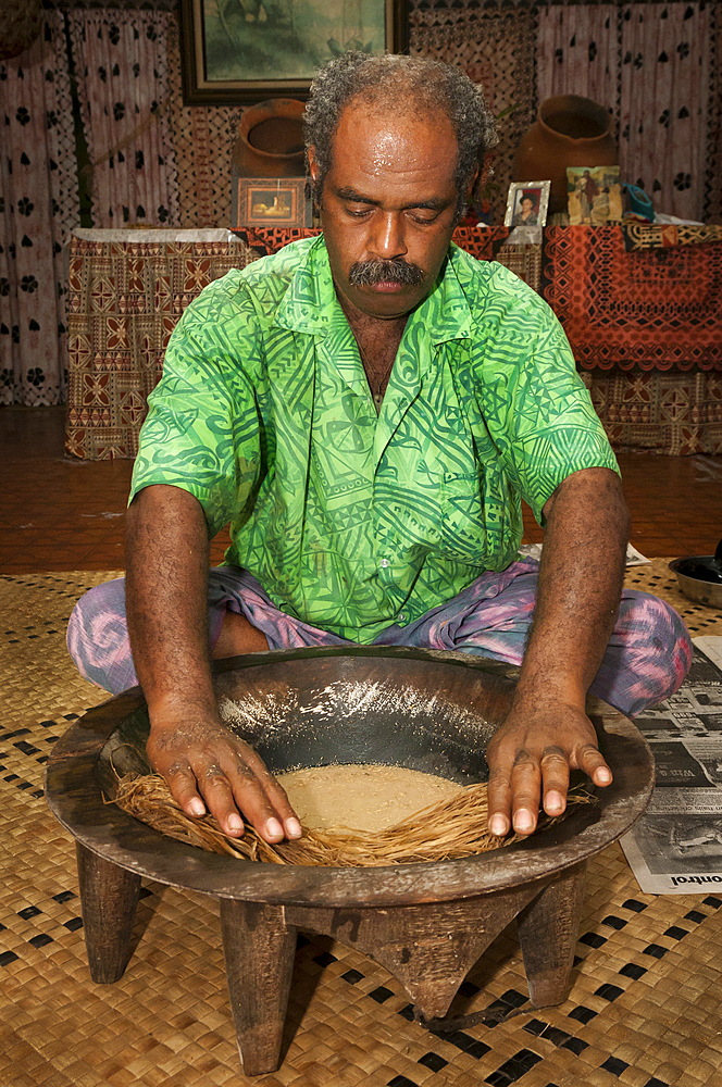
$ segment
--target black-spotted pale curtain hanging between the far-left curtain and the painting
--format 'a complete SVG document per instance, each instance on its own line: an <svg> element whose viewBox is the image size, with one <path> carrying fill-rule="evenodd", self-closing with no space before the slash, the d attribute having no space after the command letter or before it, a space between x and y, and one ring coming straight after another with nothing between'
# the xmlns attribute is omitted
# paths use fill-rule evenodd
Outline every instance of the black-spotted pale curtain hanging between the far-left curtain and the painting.
<svg viewBox="0 0 722 1087"><path fill-rule="evenodd" d="M69 12L92 166L96 227L175 226L178 186L169 123L169 12Z"/></svg>

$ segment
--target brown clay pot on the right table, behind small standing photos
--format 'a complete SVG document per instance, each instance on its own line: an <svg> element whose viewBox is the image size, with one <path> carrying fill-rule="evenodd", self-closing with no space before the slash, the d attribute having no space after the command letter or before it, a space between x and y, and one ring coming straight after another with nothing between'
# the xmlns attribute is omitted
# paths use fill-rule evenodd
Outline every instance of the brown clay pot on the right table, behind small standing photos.
<svg viewBox="0 0 722 1087"><path fill-rule="evenodd" d="M612 166L619 162L612 118L603 105L578 95L558 95L539 107L511 165L513 182L551 182L549 213L567 211L568 166Z"/></svg>

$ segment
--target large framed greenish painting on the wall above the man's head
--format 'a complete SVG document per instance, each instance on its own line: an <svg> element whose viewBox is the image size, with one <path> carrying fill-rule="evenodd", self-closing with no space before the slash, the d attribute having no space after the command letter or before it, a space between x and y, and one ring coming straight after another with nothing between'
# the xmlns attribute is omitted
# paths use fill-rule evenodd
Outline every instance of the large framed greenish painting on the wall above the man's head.
<svg viewBox="0 0 722 1087"><path fill-rule="evenodd" d="M348 49L402 53L408 0L182 0L186 105L306 98Z"/></svg>

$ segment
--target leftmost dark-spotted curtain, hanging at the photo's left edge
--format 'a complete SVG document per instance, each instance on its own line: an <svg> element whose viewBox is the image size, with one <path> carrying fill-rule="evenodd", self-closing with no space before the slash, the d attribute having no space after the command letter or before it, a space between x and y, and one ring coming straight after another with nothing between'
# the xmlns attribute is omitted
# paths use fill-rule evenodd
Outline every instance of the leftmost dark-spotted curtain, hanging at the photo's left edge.
<svg viewBox="0 0 722 1087"><path fill-rule="evenodd" d="M64 399L67 271L79 221L63 16L0 63L0 403Z"/></svg>

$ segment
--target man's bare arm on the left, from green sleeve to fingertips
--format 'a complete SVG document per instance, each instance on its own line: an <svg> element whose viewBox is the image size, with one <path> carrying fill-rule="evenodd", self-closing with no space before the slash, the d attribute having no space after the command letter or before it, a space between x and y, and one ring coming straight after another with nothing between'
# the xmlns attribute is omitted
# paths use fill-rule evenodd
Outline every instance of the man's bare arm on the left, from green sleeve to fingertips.
<svg viewBox="0 0 722 1087"><path fill-rule="evenodd" d="M189 815L209 810L228 834L242 812L266 841L299 837L283 788L223 724L208 630L209 539L200 503L177 487L140 491L128 510L126 609L150 715L148 757Z"/></svg>

